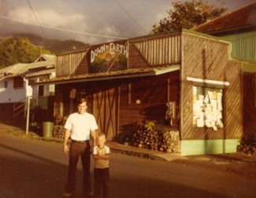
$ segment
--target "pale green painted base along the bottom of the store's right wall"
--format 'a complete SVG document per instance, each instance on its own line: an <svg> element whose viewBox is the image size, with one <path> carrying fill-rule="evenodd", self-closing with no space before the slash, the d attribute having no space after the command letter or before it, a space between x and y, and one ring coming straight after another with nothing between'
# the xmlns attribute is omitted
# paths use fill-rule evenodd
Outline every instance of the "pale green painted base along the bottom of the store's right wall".
<svg viewBox="0 0 256 198"><path fill-rule="evenodd" d="M180 141L180 155L205 155L236 152L239 139L221 140L183 140Z"/></svg>

